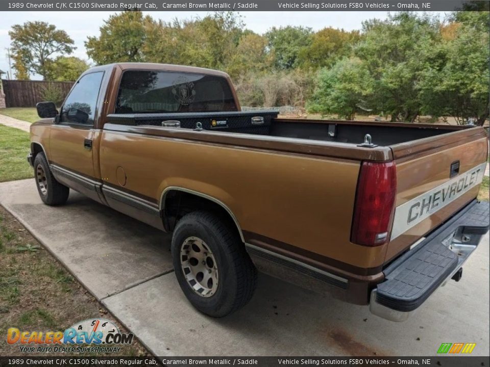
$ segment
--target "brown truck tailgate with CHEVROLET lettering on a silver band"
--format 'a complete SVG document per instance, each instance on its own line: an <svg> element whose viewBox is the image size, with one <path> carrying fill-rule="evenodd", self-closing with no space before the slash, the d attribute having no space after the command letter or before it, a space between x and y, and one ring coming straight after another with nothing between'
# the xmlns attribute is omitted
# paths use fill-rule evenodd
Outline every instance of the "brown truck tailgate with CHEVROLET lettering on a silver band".
<svg viewBox="0 0 490 367"><path fill-rule="evenodd" d="M386 262L478 195L487 144L483 128L475 127L391 146L397 197Z"/></svg>

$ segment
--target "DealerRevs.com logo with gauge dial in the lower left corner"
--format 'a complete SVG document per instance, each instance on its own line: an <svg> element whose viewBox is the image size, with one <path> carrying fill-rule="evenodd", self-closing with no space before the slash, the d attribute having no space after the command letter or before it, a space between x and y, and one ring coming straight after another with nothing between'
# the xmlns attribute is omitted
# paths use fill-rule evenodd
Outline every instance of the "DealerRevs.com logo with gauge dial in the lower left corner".
<svg viewBox="0 0 490 367"><path fill-rule="evenodd" d="M121 333L113 322L104 319L83 320L65 331L7 330L7 343L19 344L24 353L119 352L118 345L132 342L132 333Z"/></svg>

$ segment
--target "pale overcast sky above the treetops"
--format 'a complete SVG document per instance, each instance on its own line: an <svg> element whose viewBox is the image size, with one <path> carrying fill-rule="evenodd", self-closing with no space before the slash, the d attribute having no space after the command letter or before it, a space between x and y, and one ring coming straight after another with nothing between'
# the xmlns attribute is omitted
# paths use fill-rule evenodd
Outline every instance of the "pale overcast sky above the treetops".
<svg viewBox="0 0 490 367"><path fill-rule="evenodd" d="M165 21L173 18L189 19L204 17L207 12L143 12L155 19ZM14 24L27 21L46 21L55 24L75 41L74 56L92 62L86 52L84 41L88 36L98 36L99 27L114 12L0 12L0 70L8 71L7 48L10 46L9 30ZM256 33L265 33L269 28L286 25L302 25L314 31L325 27L343 28L347 31L360 29L362 21L372 18L385 19L388 12L241 12L246 27ZM440 14L443 16L444 14ZM4 74L5 78L6 75ZM39 76L31 76L40 79Z"/></svg>

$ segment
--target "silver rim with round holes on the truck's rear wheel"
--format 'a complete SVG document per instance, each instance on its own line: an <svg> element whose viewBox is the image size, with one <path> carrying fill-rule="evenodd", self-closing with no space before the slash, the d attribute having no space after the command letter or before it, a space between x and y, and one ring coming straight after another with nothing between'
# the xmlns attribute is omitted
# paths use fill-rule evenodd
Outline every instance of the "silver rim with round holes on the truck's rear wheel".
<svg viewBox="0 0 490 367"><path fill-rule="evenodd" d="M188 237L180 249L180 265L187 284L201 297L211 297L218 288L216 259L206 243Z"/></svg>

